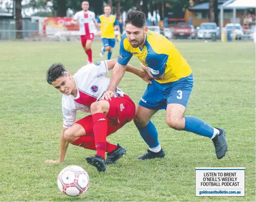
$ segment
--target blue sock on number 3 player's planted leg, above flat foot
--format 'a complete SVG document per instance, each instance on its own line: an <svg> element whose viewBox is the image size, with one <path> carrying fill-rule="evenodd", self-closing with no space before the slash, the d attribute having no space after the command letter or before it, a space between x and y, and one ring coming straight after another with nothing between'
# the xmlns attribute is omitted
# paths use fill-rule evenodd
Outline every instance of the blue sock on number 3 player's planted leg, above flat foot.
<svg viewBox="0 0 256 202"><path fill-rule="evenodd" d="M157 129L152 121L149 121L145 127L138 128L138 130L149 148L154 148L159 145Z"/></svg>

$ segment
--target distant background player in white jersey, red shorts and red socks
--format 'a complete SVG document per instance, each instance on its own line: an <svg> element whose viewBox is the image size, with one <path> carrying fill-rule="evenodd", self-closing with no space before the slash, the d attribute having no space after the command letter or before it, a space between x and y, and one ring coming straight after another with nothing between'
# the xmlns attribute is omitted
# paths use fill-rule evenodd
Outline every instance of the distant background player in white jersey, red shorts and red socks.
<svg viewBox="0 0 256 202"><path fill-rule="evenodd" d="M72 24L79 24L81 42L85 53L88 56L88 63L92 63L91 45L94 40L94 33L97 32L98 23L95 19L95 13L89 10L89 2L82 2L82 10L73 16Z"/></svg>

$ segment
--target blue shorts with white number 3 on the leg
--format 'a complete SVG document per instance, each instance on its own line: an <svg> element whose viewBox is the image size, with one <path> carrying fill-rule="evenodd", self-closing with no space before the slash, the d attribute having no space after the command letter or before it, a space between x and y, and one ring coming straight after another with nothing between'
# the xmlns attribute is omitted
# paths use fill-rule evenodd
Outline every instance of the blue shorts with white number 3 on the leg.
<svg viewBox="0 0 256 202"><path fill-rule="evenodd" d="M193 88L193 74L170 83L158 83L152 80L148 84L139 102L148 109L165 109L168 104L177 103L187 107Z"/></svg>

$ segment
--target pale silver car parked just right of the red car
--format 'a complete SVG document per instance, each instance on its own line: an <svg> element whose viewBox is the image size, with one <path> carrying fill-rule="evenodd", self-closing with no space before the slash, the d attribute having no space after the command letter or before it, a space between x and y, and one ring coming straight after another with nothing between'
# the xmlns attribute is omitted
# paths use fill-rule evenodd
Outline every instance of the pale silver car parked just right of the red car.
<svg viewBox="0 0 256 202"><path fill-rule="evenodd" d="M219 38L219 27L215 22L201 23L200 27L197 27L198 39L211 39L213 34Z"/></svg>

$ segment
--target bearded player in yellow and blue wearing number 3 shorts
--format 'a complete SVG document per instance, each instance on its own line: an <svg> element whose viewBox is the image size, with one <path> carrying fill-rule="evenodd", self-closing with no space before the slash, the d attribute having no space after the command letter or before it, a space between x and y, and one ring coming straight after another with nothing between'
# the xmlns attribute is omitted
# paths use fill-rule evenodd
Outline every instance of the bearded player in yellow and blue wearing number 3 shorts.
<svg viewBox="0 0 256 202"><path fill-rule="evenodd" d="M149 146L138 159L163 158L157 129L150 121L161 109L166 110L166 123L173 129L189 131L212 139L218 159L225 156L225 131L214 128L197 117L183 116L193 87L193 74L187 61L171 41L146 27L146 15L129 11L125 20L125 35L120 41L118 62L112 72L108 90L101 99L111 100L114 90L125 74L128 61L134 55L142 69L152 78L141 97L134 122L141 137Z"/></svg>

